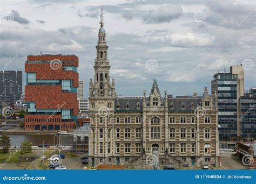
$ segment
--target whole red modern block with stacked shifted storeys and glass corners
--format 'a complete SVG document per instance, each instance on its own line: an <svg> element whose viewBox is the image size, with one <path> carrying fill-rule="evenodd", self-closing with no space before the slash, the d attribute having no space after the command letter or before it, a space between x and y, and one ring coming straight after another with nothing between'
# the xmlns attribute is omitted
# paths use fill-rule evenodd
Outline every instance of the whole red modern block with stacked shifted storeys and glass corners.
<svg viewBox="0 0 256 184"><path fill-rule="evenodd" d="M25 130L73 130L78 115L78 57L28 55Z"/></svg>

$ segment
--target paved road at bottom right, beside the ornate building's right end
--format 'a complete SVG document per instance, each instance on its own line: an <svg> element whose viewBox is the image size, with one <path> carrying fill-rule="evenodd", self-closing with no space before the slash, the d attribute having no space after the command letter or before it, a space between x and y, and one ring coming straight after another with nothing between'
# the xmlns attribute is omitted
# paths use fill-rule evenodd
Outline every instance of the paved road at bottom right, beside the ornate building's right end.
<svg viewBox="0 0 256 184"><path fill-rule="evenodd" d="M241 159L232 156L231 152L222 152L220 162L225 169L248 169L242 164Z"/></svg>

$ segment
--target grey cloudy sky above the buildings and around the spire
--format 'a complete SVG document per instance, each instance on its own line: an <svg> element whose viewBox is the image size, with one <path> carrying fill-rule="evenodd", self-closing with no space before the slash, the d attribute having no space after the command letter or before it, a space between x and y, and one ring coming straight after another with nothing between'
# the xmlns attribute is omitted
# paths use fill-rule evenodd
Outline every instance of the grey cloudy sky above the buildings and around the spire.
<svg viewBox="0 0 256 184"><path fill-rule="evenodd" d="M152 79L161 93L211 89L213 74L245 68L256 86L255 2L247 1L1 1L0 68L23 70L28 54L76 54L79 79L93 77L100 5L111 77L120 95L143 95ZM25 83L25 74L23 73ZM24 90L24 89L23 89Z"/></svg>

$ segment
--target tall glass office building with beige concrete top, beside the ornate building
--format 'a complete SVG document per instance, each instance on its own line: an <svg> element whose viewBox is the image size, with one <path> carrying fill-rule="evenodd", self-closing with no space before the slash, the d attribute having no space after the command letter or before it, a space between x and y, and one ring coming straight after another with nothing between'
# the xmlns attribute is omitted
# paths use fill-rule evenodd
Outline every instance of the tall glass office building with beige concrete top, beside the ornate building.
<svg viewBox="0 0 256 184"><path fill-rule="evenodd" d="M240 97L244 96L244 69L231 66L230 73L216 73L212 81L218 95L220 148L233 148L240 138Z"/></svg>

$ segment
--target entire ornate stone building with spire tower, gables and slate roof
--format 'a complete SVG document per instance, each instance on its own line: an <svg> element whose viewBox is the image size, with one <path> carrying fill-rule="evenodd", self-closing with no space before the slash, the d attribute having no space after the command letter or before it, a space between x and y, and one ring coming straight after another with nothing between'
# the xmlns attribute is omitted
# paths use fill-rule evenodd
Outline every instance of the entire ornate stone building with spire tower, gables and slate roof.
<svg viewBox="0 0 256 184"><path fill-rule="evenodd" d="M90 79L89 165L146 167L218 165L217 95L162 97L157 81L150 95L126 98L110 82L106 34L98 33L95 76Z"/></svg>

